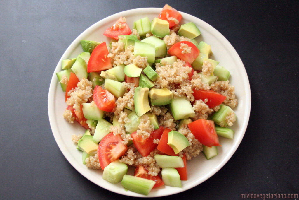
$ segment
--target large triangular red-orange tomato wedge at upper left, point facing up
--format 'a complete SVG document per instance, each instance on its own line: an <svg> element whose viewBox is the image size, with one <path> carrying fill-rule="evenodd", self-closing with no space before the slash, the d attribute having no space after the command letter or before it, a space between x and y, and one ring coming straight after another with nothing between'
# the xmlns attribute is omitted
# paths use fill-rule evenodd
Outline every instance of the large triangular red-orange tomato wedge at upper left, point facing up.
<svg viewBox="0 0 299 200"><path fill-rule="evenodd" d="M108 70L112 68L111 60L108 58L108 49L106 42L100 43L92 51L89 61L87 63L87 72L99 72L101 70Z"/></svg>

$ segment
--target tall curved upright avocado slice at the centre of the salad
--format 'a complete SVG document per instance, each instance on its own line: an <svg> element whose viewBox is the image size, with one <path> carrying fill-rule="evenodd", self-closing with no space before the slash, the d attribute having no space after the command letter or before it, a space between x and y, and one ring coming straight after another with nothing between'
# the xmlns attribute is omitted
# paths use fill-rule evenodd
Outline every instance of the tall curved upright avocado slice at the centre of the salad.
<svg viewBox="0 0 299 200"><path fill-rule="evenodd" d="M135 110L138 116L145 114L150 110L149 106L149 88L137 87L134 94Z"/></svg>

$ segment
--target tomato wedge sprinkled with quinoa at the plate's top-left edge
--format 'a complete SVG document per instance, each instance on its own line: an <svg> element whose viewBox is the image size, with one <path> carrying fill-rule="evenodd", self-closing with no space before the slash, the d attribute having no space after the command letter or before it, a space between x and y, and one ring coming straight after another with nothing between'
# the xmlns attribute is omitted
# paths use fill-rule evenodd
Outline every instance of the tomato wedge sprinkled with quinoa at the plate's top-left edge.
<svg viewBox="0 0 299 200"><path fill-rule="evenodd" d="M103 35L118 40L119 35L129 35L132 31L126 21L120 17L113 26L107 28Z"/></svg>

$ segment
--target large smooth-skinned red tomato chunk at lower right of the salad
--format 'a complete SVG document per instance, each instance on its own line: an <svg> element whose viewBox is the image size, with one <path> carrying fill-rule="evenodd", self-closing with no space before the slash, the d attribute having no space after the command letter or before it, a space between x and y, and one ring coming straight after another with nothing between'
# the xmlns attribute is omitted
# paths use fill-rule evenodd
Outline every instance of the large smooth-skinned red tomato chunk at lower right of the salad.
<svg viewBox="0 0 299 200"><path fill-rule="evenodd" d="M194 137L203 145L208 147L220 145L214 121L198 119L188 124L188 127Z"/></svg>

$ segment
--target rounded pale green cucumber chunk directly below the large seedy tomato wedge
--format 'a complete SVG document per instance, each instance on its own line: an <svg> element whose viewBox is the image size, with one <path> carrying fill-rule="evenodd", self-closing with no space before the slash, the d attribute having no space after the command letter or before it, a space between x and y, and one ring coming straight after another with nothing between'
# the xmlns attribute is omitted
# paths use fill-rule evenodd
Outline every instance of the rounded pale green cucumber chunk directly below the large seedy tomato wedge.
<svg viewBox="0 0 299 200"><path fill-rule="evenodd" d="M125 175L127 171L128 166L125 163L115 160L105 167L102 178L112 184L117 184L123 179L123 175Z"/></svg>

